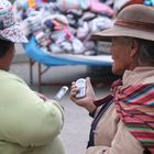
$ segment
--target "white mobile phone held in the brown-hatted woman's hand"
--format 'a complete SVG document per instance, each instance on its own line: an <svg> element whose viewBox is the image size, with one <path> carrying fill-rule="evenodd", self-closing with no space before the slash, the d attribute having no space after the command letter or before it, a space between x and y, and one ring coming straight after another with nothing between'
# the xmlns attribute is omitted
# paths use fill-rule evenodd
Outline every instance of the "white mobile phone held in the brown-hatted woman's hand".
<svg viewBox="0 0 154 154"><path fill-rule="evenodd" d="M76 98L82 98L86 96L86 79L79 78L76 81L76 86L79 88L79 92L76 95Z"/></svg>

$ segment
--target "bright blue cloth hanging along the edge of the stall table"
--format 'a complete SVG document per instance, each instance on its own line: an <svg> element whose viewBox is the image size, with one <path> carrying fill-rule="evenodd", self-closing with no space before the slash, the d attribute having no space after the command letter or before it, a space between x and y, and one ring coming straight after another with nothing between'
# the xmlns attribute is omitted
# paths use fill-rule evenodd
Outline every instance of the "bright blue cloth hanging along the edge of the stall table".
<svg viewBox="0 0 154 154"><path fill-rule="evenodd" d="M28 44L23 44L24 51L28 56L35 62L42 63L46 66L63 66L63 65L91 65L91 66L111 66L111 62L97 61L97 59L86 59L76 58L76 55L69 56L61 56L59 54L47 54L43 52L40 46L36 44L34 36L30 40ZM88 57L88 56L87 56Z"/></svg>

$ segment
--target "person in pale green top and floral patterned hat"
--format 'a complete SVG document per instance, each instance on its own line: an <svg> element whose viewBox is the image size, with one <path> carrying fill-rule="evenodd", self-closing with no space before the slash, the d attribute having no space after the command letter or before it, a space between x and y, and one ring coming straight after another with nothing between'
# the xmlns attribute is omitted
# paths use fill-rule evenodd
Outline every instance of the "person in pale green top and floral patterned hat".
<svg viewBox="0 0 154 154"><path fill-rule="evenodd" d="M0 0L0 154L65 154L62 107L8 73L14 43L26 42L11 3Z"/></svg>

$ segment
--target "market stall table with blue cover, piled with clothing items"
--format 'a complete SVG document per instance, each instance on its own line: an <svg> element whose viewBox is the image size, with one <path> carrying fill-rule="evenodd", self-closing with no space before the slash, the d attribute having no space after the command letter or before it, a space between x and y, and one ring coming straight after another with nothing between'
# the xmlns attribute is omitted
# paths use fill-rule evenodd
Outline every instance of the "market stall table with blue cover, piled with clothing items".
<svg viewBox="0 0 154 154"><path fill-rule="evenodd" d="M120 0L116 1L119 3ZM42 75L52 66L110 66L110 44L91 41L90 35L112 26L116 1L16 1L18 20L30 41L24 48L30 57L31 80L34 63L38 63L40 85ZM150 3L148 0L145 1ZM42 70L41 65L47 69Z"/></svg>

